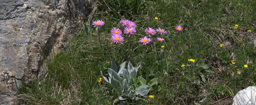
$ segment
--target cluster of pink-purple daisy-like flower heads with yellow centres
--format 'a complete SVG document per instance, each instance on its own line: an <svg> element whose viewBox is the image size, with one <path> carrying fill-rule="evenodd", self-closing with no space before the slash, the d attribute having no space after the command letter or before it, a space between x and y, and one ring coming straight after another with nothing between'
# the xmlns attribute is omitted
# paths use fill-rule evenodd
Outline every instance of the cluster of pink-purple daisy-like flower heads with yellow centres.
<svg viewBox="0 0 256 105"><path fill-rule="evenodd" d="M92 25L94 25L94 27L98 27L98 28L103 26L104 24L105 23L102 20L97 20L92 23ZM129 34L129 37L131 36L131 34L133 35L134 33L136 33L136 30L135 30L136 25L133 21L125 20L123 18L123 19L121 19L120 24L123 26L124 33ZM183 28L181 26L176 26L175 29L178 31L183 30ZM155 35L156 31L160 35L167 34L167 31L165 31L164 28L160 28L160 27L157 30L150 28L150 27L145 29L145 33L147 35L149 35L149 37L151 37L150 35ZM124 41L124 37L122 37L122 34L123 34L122 30L120 30L119 28L116 28L116 27L112 28L110 33L111 33L111 40L114 43L122 43L122 41ZM164 38L157 37L157 41L162 42L162 41L164 41ZM153 40L151 38L143 37L143 38L140 38L139 42L142 43L143 45L146 45L148 43L153 42Z"/></svg>

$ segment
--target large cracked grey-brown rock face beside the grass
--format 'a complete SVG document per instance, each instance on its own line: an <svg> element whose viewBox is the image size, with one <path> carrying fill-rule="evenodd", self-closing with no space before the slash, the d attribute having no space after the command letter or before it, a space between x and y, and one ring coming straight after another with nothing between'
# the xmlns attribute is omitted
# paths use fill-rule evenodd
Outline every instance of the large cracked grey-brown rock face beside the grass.
<svg viewBox="0 0 256 105"><path fill-rule="evenodd" d="M52 49L81 27L94 0L0 0L0 105L17 105L17 88L43 75Z"/></svg>

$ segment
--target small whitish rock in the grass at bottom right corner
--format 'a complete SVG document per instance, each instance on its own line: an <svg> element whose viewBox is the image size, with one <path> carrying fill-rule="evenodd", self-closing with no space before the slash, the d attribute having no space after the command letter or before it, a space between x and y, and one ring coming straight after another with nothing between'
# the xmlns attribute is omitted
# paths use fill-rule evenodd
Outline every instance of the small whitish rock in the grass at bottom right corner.
<svg viewBox="0 0 256 105"><path fill-rule="evenodd" d="M256 86L247 87L237 92L232 105L256 105Z"/></svg>

